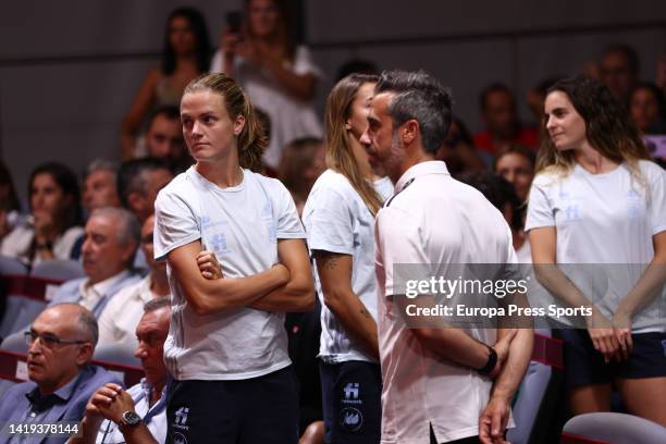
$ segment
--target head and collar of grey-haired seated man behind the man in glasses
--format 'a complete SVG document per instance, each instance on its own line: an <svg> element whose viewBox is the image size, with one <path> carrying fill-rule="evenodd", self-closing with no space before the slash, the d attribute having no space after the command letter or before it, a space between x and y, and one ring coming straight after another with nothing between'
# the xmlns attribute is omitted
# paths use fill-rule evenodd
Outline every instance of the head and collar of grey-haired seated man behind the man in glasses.
<svg viewBox="0 0 666 444"><path fill-rule="evenodd" d="M92 211L82 248L86 278L65 282L51 305L81 304L99 318L111 297L140 280L132 270L138 240L139 225L130 211L111 207Z"/></svg>

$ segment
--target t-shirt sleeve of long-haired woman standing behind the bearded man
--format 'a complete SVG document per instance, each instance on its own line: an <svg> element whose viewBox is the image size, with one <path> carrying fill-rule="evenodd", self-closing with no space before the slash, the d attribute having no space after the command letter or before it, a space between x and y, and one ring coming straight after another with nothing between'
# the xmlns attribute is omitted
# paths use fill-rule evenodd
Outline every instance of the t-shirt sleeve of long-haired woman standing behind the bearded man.
<svg viewBox="0 0 666 444"><path fill-rule="evenodd" d="M354 224L347 200L336 189L321 187L308 205L308 247L341 255L354 254Z"/></svg>

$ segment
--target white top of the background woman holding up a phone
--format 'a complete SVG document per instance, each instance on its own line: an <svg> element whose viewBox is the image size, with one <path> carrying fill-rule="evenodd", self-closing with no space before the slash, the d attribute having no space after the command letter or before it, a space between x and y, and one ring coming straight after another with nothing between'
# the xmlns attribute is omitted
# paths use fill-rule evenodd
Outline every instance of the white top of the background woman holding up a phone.
<svg viewBox="0 0 666 444"><path fill-rule="evenodd" d="M293 63L286 63L285 69L294 74L313 74L321 77L322 73L312 61L310 51L305 46L296 48ZM210 64L210 71L224 71L222 51L217 51ZM282 149L285 145L299 137L321 137L321 120L314 112L312 101L298 100L285 91L284 86L267 70L258 70L245 59L234 59L234 78L243 86L252 104L266 112L271 119L271 137L263 153L263 161L278 168Z"/></svg>

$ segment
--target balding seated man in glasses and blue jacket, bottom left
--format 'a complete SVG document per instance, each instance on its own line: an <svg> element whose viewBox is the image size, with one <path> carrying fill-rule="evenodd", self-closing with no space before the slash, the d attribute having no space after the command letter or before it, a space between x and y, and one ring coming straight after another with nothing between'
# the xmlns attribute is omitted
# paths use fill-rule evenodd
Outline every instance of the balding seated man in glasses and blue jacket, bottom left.
<svg viewBox="0 0 666 444"><path fill-rule="evenodd" d="M97 344L97 321L78 304L54 305L35 319L25 338L29 381L14 385L0 398L0 442L64 443L69 437L64 433L10 434L4 425L78 423L90 395L100 385L119 382L89 363Z"/></svg>

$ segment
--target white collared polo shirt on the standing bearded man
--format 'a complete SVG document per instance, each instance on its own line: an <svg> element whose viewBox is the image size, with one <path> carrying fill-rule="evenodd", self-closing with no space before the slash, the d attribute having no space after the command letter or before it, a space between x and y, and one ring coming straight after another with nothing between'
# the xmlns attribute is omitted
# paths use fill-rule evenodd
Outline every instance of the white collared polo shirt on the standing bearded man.
<svg viewBox="0 0 666 444"><path fill-rule="evenodd" d="M390 297L400 292L394 287L394 266L431 264L433 275L443 276L449 266L516 263L511 231L481 193L451 177L444 162L411 166L395 189L375 223L381 442L429 444L430 424L437 442L472 436L492 381L421 345ZM464 330L485 344L496 342L495 329Z"/></svg>

